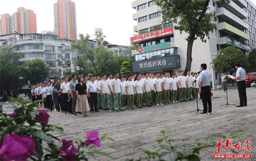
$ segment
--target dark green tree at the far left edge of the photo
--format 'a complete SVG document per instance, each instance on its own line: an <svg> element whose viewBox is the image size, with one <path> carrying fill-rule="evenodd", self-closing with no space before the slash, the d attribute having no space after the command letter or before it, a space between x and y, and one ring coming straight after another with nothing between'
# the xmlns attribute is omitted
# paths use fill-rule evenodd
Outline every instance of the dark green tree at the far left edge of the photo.
<svg viewBox="0 0 256 161"><path fill-rule="evenodd" d="M10 51L9 47L0 47L0 93L3 90L9 95L15 87L18 86L19 80L19 55Z"/></svg>

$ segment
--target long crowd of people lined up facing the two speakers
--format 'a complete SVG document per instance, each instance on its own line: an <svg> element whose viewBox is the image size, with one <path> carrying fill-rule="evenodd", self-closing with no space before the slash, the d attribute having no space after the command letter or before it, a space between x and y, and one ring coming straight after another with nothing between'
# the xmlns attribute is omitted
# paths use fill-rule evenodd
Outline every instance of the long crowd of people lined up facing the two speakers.
<svg viewBox="0 0 256 161"><path fill-rule="evenodd" d="M199 75L200 77L200 75ZM72 75L46 84L38 83L31 89L32 101L44 100L44 108L51 111L81 114L99 109L122 111L162 106L163 104L192 101L198 98L197 73L188 71L145 72L122 76L112 74L77 78Z"/></svg>

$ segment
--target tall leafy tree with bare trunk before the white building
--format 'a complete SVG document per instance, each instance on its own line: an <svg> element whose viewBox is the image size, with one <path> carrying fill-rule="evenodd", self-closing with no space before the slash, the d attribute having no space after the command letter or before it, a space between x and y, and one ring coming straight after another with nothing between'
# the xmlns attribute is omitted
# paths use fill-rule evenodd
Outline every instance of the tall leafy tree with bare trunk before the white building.
<svg viewBox="0 0 256 161"><path fill-rule="evenodd" d="M164 22L173 22L174 28L188 33L187 40L187 60L186 68L191 69L192 47L194 40L200 38L202 42L209 39L209 32L216 29L213 17L216 11L210 11L210 0L155 0L160 7ZM228 3L229 0L223 0L222 4Z"/></svg>

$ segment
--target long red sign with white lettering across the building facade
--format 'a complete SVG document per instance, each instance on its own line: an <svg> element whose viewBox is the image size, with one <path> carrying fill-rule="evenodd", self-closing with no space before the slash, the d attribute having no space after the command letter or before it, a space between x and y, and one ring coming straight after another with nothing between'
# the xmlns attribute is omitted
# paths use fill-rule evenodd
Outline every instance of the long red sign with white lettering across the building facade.
<svg viewBox="0 0 256 161"><path fill-rule="evenodd" d="M173 34L173 27L160 29L153 32L147 32L145 34L131 37L131 43L137 43L143 40L152 39L152 38L161 37L161 36L170 35L170 34Z"/></svg>

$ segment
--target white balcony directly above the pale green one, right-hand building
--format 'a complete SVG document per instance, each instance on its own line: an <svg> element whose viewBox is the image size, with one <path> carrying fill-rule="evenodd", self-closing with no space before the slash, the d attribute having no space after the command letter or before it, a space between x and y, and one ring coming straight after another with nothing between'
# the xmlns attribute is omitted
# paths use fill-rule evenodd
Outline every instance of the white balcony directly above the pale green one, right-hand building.
<svg viewBox="0 0 256 161"><path fill-rule="evenodd" d="M249 28L246 22L244 22L241 18L237 17L235 14L231 13L224 7L221 7L218 10L219 12L217 13L217 16L221 17L223 21L240 30L247 30Z"/></svg>

